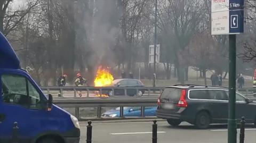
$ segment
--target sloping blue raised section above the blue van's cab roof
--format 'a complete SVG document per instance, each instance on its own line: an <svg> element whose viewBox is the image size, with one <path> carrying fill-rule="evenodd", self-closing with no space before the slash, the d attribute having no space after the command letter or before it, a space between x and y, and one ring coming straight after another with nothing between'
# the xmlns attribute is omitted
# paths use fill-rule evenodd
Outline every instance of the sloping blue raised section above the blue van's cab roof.
<svg viewBox="0 0 256 143"><path fill-rule="evenodd" d="M20 61L12 46L0 32L0 69L20 69Z"/></svg>

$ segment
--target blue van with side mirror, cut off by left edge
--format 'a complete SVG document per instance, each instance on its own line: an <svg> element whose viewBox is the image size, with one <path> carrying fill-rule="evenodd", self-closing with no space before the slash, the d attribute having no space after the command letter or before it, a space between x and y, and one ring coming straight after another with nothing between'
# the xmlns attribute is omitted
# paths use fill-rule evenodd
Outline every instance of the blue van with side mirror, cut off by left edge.
<svg viewBox="0 0 256 143"><path fill-rule="evenodd" d="M11 142L13 123L18 122L19 143L78 143L75 116L52 104L0 33L0 142Z"/></svg>

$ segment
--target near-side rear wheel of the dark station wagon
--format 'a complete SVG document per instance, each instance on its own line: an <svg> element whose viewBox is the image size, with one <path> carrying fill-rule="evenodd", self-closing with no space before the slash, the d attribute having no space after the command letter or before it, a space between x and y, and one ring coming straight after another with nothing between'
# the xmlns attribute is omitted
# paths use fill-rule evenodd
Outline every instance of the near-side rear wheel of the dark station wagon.
<svg viewBox="0 0 256 143"><path fill-rule="evenodd" d="M198 129L207 129L210 126L210 115L207 112L199 112L196 115L195 125Z"/></svg>

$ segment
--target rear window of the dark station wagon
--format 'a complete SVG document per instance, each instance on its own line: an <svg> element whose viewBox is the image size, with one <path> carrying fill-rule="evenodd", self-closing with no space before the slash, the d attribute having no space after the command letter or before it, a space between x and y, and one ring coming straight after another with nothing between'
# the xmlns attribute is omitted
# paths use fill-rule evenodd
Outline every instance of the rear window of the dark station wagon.
<svg viewBox="0 0 256 143"><path fill-rule="evenodd" d="M170 102L178 103L181 96L179 88L165 88L161 94L161 99L169 99Z"/></svg>

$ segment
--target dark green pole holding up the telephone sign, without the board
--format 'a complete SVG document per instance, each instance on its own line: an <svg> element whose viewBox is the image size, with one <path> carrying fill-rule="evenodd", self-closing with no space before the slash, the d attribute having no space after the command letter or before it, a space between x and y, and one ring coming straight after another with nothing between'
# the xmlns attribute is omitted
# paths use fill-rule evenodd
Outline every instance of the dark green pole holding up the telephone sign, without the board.
<svg viewBox="0 0 256 143"><path fill-rule="evenodd" d="M229 35L228 143L236 143L236 35Z"/></svg>

